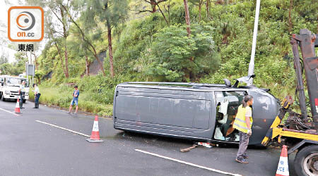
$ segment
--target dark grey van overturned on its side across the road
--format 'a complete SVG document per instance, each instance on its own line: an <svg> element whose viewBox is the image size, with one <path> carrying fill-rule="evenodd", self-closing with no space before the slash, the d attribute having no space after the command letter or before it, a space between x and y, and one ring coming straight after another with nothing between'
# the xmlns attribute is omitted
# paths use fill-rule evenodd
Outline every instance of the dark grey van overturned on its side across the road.
<svg viewBox="0 0 318 176"><path fill-rule="evenodd" d="M225 84L124 82L114 92L114 128L220 143L240 141L232 128L245 94L254 96L250 145L261 144L278 115L266 89Z"/></svg>

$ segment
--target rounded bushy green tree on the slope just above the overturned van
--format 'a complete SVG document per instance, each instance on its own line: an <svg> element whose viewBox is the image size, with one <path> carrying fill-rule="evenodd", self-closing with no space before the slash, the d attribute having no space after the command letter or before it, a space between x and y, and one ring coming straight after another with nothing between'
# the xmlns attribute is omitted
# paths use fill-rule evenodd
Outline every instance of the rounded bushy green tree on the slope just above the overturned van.
<svg viewBox="0 0 318 176"><path fill-rule="evenodd" d="M213 73L220 65L208 27L194 26L187 37L185 26L170 25L155 34L146 74L160 81L189 82Z"/></svg>

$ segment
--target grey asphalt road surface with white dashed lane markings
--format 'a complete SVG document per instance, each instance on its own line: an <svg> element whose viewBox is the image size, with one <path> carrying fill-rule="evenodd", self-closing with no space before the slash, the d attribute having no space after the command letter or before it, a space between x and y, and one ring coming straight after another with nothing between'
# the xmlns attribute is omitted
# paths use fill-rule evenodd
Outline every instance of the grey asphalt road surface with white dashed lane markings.
<svg viewBox="0 0 318 176"><path fill-rule="evenodd" d="M43 105L33 109L29 101L22 114L15 115L15 106L14 101L0 101L1 176L275 175L281 152L248 149L248 165L235 162L235 147L199 146L181 153L179 149L193 142L114 130L107 118L99 118L105 142L93 144L86 142L93 116L69 115ZM289 157L290 175L295 175L294 157Z"/></svg>

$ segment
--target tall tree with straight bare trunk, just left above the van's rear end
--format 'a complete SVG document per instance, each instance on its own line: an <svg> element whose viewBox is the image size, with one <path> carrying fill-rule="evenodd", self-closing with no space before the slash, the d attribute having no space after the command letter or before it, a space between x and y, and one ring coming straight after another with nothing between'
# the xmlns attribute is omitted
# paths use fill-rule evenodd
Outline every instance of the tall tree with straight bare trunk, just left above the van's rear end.
<svg viewBox="0 0 318 176"><path fill-rule="evenodd" d="M84 5L88 9L82 11L81 15L86 18L84 25L96 26L98 22L102 22L107 27L108 40L108 56L110 58L110 75L114 77L114 65L112 54L112 27L116 27L119 23L125 20L127 15L126 0L90 0ZM98 21L96 21L96 17Z"/></svg>

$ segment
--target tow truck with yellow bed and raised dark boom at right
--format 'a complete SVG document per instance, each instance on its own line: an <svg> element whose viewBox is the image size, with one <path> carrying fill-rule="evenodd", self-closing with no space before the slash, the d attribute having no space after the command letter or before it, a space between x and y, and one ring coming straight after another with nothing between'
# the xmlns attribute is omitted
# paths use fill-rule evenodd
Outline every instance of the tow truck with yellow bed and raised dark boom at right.
<svg viewBox="0 0 318 176"><path fill-rule="evenodd" d="M318 47L318 34L302 29L300 34L293 34L290 39L293 46L294 68L296 73L298 98L301 113L290 109L294 100L286 96L281 102L279 115L273 121L266 133L262 144L281 144L288 146L288 154L296 151L294 167L297 175L318 175L318 57L315 47ZM298 46L300 46L301 56ZM307 82L309 102L305 99L305 86ZM307 113L310 105L311 116ZM285 117L286 116L286 117ZM287 118L283 124L283 119Z"/></svg>

